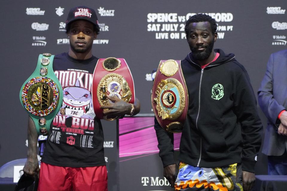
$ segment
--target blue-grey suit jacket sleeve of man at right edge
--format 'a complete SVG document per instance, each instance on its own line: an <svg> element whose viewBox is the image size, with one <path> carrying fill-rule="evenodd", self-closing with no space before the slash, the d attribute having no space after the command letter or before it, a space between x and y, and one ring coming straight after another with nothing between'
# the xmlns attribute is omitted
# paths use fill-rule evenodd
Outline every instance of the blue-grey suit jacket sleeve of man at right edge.
<svg viewBox="0 0 287 191"><path fill-rule="evenodd" d="M274 125L279 125L278 115L285 108L278 104L273 96L273 67L274 55L271 54L267 63L265 76L258 90L258 103L268 120Z"/></svg>

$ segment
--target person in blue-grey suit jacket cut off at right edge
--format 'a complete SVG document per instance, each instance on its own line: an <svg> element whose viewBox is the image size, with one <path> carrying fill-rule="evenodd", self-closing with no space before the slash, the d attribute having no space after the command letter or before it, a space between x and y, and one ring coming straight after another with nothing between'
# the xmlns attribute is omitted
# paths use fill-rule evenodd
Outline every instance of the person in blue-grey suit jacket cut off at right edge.
<svg viewBox="0 0 287 191"><path fill-rule="evenodd" d="M287 50L271 54L258 102L268 118L262 149L268 155L268 174L287 175Z"/></svg>

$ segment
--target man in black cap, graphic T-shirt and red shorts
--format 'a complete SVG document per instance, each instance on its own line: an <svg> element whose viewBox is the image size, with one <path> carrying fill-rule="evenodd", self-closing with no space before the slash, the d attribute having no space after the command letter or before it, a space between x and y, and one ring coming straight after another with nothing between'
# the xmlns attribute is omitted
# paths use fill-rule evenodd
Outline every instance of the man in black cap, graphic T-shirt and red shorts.
<svg viewBox="0 0 287 191"><path fill-rule="evenodd" d="M39 173L38 190L107 190L103 150L103 129L95 118L91 99L92 74L98 58L91 53L99 33L97 15L89 7L70 10L66 21L70 41L68 53L56 55L53 69L63 88L63 104L54 118ZM104 111L108 118L132 113L132 105L107 96L115 104ZM135 99L134 115L139 112ZM36 154L38 134L28 123L28 159L24 172L38 175Z"/></svg>

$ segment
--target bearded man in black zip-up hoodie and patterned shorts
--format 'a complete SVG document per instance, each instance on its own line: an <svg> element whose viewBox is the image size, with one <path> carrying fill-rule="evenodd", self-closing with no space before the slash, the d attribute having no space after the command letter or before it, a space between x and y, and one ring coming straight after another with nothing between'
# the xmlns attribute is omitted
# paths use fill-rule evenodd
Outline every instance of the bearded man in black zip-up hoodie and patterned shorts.
<svg viewBox="0 0 287 191"><path fill-rule="evenodd" d="M190 17L185 25L191 53L181 61L189 106L181 135L179 168L173 134L155 119L164 176L175 190L251 190L262 124L245 68L220 49L216 21ZM177 173L178 171L178 173Z"/></svg>

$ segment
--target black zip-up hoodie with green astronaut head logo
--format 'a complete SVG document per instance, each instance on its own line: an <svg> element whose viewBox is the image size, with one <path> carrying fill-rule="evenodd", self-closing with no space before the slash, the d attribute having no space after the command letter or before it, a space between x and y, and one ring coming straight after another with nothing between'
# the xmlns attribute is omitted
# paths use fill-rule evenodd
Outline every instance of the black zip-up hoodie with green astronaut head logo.
<svg viewBox="0 0 287 191"><path fill-rule="evenodd" d="M181 61L189 106L179 160L206 168L242 163L242 170L254 172L262 130L254 91L234 54L215 52L220 56L204 69L192 61L192 53ZM174 164L173 135L156 118L155 130L163 165Z"/></svg>

